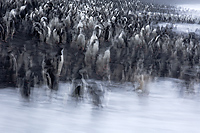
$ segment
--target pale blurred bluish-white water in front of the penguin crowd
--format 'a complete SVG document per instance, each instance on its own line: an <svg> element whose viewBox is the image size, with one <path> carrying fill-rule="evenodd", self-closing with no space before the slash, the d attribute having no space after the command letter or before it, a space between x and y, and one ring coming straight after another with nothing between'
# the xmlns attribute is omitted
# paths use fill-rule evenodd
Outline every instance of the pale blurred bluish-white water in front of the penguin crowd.
<svg viewBox="0 0 200 133"><path fill-rule="evenodd" d="M60 83L59 91L34 88L30 99L19 90L0 90L0 131L6 133L110 133L110 132L199 132L200 93L181 91L178 80L158 79L149 84L149 94L133 91L130 83L105 82L103 107L88 97L69 95L69 83ZM182 92L182 93L181 93Z"/></svg>

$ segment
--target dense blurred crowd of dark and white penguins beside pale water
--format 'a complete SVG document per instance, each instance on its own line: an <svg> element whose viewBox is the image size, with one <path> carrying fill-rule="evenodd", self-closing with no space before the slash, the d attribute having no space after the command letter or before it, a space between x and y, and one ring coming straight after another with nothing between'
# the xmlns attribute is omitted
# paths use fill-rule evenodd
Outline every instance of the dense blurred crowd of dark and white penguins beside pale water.
<svg viewBox="0 0 200 133"><path fill-rule="evenodd" d="M61 80L72 81L78 96L84 85L104 94L87 79L139 82L142 89L153 77L172 77L191 89L200 78L199 36L178 34L173 24L200 18L179 12L138 0L1 1L1 80L25 96L36 85L57 90Z"/></svg>

